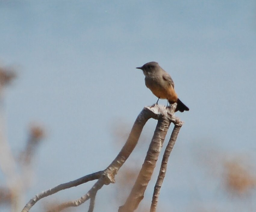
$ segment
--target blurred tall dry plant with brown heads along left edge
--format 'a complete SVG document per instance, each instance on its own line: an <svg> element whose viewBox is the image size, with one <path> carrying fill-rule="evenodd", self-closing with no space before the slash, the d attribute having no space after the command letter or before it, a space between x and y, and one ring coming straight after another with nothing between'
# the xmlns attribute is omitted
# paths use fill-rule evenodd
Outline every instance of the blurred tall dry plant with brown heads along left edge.
<svg viewBox="0 0 256 212"><path fill-rule="evenodd" d="M39 123L32 123L28 128L26 145L18 155L11 151L5 135L4 92L8 85L17 78L14 68L0 67L0 170L4 179L0 181L0 208L5 205L16 212L23 208L26 193L32 186L33 164L36 149L45 136L45 129Z"/></svg>

